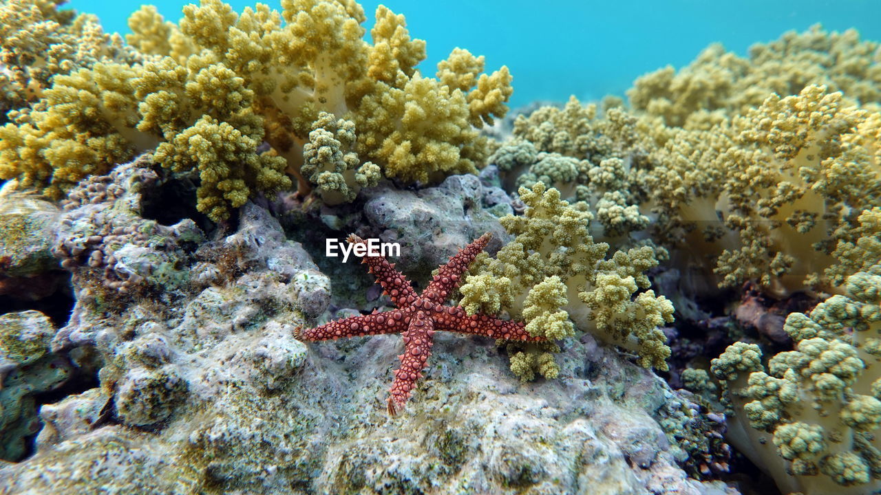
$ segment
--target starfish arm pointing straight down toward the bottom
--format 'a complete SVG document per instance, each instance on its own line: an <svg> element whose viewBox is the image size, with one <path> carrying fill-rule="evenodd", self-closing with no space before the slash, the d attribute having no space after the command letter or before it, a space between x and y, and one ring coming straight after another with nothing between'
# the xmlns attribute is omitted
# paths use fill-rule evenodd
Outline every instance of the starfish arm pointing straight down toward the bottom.
<svg viewBox="0 0 881 495"><path fill-rule="evenodd" d="M389 389L390 415L395 416L403 409L411 390L416 387L416 380L422 378L422 370L426 368L434 344L433 334L432 319L425 311L417 311L410 327L403 333L404 351L397 357L401 360L401 367L395 370L395 381Z"/></svg>

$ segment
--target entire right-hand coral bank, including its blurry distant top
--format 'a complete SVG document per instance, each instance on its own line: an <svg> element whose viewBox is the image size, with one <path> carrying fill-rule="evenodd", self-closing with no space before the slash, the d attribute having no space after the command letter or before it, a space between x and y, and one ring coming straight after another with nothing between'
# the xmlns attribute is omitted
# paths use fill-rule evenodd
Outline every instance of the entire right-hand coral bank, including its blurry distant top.
<svg viewBox="0 0 881 495"><path fill-rule="evenodd" d="M835 292L833 251L881 202L879 53L819 26L749 58L713 46L638 79L629 109L573 98L518 116L491 162L509 189L588 202L602 240L666 247L687 293Z"/></svg>

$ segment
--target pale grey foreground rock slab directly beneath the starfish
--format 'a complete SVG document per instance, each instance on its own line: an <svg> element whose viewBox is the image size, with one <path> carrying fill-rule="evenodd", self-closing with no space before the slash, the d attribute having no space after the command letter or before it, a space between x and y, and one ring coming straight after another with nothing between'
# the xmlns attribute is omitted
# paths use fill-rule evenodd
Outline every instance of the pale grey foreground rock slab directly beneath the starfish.
<svg viewBox="0 0 881 495"><path fill-rule="evenodd" d="M271 321L209 339L183 366L190 395L161 428L63 433L0 481L12 493L732 492L677 467L659 421L689 414L686 404L589 336L563 353L559 380L523 384L490 339L441 335L393 418L383 401L399 338L307 350L291 330ZM93 465L103 468L82 476Z"/></svg>

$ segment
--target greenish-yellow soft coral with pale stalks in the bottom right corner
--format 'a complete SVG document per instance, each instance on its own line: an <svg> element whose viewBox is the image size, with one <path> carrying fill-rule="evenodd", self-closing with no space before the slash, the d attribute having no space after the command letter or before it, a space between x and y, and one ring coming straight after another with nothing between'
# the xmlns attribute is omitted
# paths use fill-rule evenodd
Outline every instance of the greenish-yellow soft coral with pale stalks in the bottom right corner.
<svg viewBox="0 0 881 495"><path fill-rule="evenodd" d="M767 373L755 344L733 344L712 363L729 401L729 440L784 492L881 488L881 265L849 277L846 290L811 314L789 314L796 350L771 358Z"/></svg>

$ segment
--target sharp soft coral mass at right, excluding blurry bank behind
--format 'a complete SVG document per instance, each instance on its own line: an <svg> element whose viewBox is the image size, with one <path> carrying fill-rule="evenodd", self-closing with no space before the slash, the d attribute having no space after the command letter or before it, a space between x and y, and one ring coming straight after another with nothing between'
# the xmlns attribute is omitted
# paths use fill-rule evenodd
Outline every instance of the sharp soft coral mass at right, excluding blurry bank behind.
<svg viewBox="0 0 881 495"><path fill-rule="evenodd" d="M667 126L618 107L597 118L570 100L518 117L518 139L491 161L517 176L509 183L587 201L603 240L648 235L688 292L749 280L776 296L836 291L833 251L881 202L881 114L808 85L701 122Z"/></svg>

